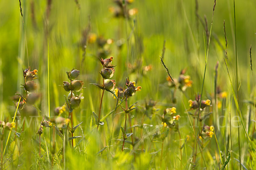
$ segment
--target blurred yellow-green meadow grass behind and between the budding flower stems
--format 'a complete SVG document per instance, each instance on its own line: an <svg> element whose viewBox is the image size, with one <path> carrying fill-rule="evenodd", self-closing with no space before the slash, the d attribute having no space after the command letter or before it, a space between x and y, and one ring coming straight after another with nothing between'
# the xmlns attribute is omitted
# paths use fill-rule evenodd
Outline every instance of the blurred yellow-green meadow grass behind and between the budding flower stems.
<svg viewBox="0 0 256 170"><path fill-rule="evenodd" d="M47 101L47 37L45 36L45 22L48 22L49 28L49 89L50 89L50 111L53 114L54 108L64 104L64 95L68 95L63 88L62 82L67 81L66 71L72 68L81 70L82 50L79 47L81 40L81 31L87 27L89 20L91 31L97 35L103 35L106 38L112 38L114 43L111 45L111 53L113 56L113 64L116 65L115 75L117 86L124 86L125 78L130 77L130 80L136 80L136 84L142 86L142 91L137 92L135 96L129 99L132 104L138 101L140 105L138 111L134 111L132 115L133 124L140 123L142 118L142 110L145 99L153 99L158 102L157 108L162 114L166 107L177 107L177 113L182 116L180 119L180 132L182 139L189 135L193 138L193 133L184 112L189 108L188 100L194 99L195 94L201 93L203 75L204 75L204 28L199 23L199 29L196 25L195 1L194 0L134 0L131 8L137 8L138 14L132 17L135 21L135 26L132 20L123 18L114 18L109 12L109 7L115 6L111 0L80 0L79 10L74 0L55 0L52 1L51 11L48 21L46 21L47 1L22 0L23 19L26 28L26 39L28 47L29 64L32 69L38 69L38 79L40 84L40 92L42 94L41 102L37 103L41 109L41 115L48 115ZM35 21L36 28L32 23L31 3L35 6ZM198 0L198 14L203 18L204 15L208 21L208 29L210 28L212 18L213 0ZM253 87L253 78L250 71L249 48L252 45L253 65L255 61L255 46L256 46L256 23L255 23L255 8L256 1L253 0L236 0L236 35L237 35L237 51L238 51L238 75L239 75L239 101L243 113L245 124L247 122L248 104L243 100L252 100L255 88ZM19 2L17 0L0 1L0 117L9 119L14 115L15 107L10 98L16 92L22 92L20 83L23 83L22 68L28 67L26 54L26 41L23 27L23 20L20 16ZM89 19L90 18L90 19ZM227 77L227 69L224 64L225 38L223 31L223 20L226 23L227 41L228 41L228 62L229 71L235 85L235 48L234 48L234 18L233 18L233 1L232 0L217 0L214 20L212 25L212 38L209 46L209 57L207 63L206 78L204 83L204 91L202 99L211 99L214 94L214 76L215 65L219 62L218 85L224 91L228 92L227 109L225 112L225 120L228 121L229 102L232 99L232 91L230 82ZM134 31L130 27L134 26ZM116 47L116 40L129 35L131 39L123 45L119 51ZM217 37L217 38L216 38ZM177 94L177 104L172 105L170 98L170 89L166 87L166 71L161 65L160 55L162 54L163 40L166 40L166 53L164 61L169 68L173 77L178 77L179 72L183 68L187 68L187 74L191 76L193 81L192 88L189 88L185 94ZM220 44L216 41L218 40ZM140 47L140 41L143 42ZM114 114L105 120L105 125L100 127L100 133L97 133L93 128L92 111L98 113L101 91L90 83L100 82L99 74L101 66L96 58L96 45L87 45L87 54L84 61L84 69L81 70L79 79L84 81L83 96L84 100L79 109L76 109L74 114L74 124L83 122L81 127L84 134L84 140L79 144L76 152L67 149L66 167L69 169L180 169L179 161L179 141L178 134L172 132L165 142L164 161L160 165L161 143L155 142L152 144L154 149L146 150L145 153L138 153L137 160L134 162L133 155L129 154L129 150L121 153L119 146L122 139L120 126L123 126L124 114L117 114L114 119ZM142 76L142 68L139 68L136 73L131 73L131 70L126 67L126 63L134 64L137 59L142 60L142 65L152 65L152 71L149 71L145 76ZM255 72L254 72L255 73ZM211 99L212 100L212 99ZM183 105L184 102L184 105ZM115 108L116 100L110 93L106 93L103 99L102 116L105 116ZM253 109L253 107L251 107ZM233 107L232 115L236 115L235 107ZM121 112L120 108L117 112ZM252 111L252 113L254 113ZM108 159L108 151L104 150L97 155L96 153L103 147L108 145L111 137L111 130L115 120L113 130L113 147L111 147L111 155ZM192 119L192 118L191 118ZM251 119L254 119L252 116ZM40 121L41 119L38 118ZM155 125L159 125L160 119L153 116L152 119L145 119L145 123L154 125L145 130L145 134L153 131ZM209 125L215 125L215 120L206 122ZM6 168L27 169L36 167L38 160L36 150L38 150L38 135L35 133L39 128L39 124L32 122L30 127L27 127L24 133L24 141L22 142L21 155L19 158L12 155L11 149L8 150L8 157L13 156L12 160L7 161ZM216 128L216 127L215 127ZM249 127L249 134L253 139L253 123ZM224 128L225 129L225 128ZM228 129L228 128L227 128ZM249 146L254 144L246 139L245 133L241 131L241 159L247 169L256 167L255 150ZM218 142L225 160L225 134L222 131L216 131ZM229 132L227 132L229 133ZM82 134L81 129L75 133L76 136ZM140 129L135 129L134 135L140 137ZM7 136L6 136L7 137ZM61 147L61 139L56 136L56 149ZM233 157L238 159L238 141L237 128L233 128ZM11 144L14 138L12 133ZM46 139L48 147L50 147L49 130L45 130L42 139ZM79 139L75 139L79 142ZM5 144L6 138L3 140ZM191 158L193 139L186 144L186 156L183 149L183 165L182 169L189 168L189 158ZM184 140L183 140L184 142ZM44 143L44 141L42 142ZM144 145L151 144L149 139L145 139ZM129 146L129 145L128 145ZM11 148L11 146L10 146ZM42 148L44 150L44 148ZM42 154L45 150L42 151ZM207 147L203 150L204 159L207 162L208 169L218 169L218 148L215 139L212 138ZM198 169L204 169L204 164L201 161L201 154L198 154ZM187 158L187 159L186 159ZM59 158L61 161L61 158ZM41 168L47 169L47 156L44 155L41 160ZM58 167L60 165L60 167ZM54 168L63 168L59 162ZM239 168L239 163L233 159L234 169ZM229 163L229 169L230 163Z"/></svg>

